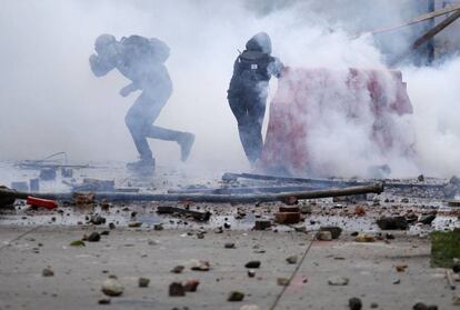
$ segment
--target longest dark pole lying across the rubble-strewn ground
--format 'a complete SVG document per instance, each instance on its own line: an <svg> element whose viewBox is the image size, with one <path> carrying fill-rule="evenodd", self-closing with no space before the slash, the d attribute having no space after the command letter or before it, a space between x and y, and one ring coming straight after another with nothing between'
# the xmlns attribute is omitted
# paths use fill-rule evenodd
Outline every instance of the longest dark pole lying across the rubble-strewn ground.
<svg viewBox="0 0 460 310"><path fill-rule="evenodd" d="M259 193L259 194L154 194L154 193L124 193L124 192L97 192L96 199L106 199L107 201L192 201L192 202L213 202L213 203L251 203L269 201L287 201L291 198L297 199L318 199L328 197L352 196L362 193L381 193L383 184L377 183L364 187L350 187L342 189L326 189L317 191L292 191L281 193ZM38 198L53 200L71 200L72 193L31 193ZM26 192L0 189L1 197L13 196L17 199L27 199Z"/></svg>

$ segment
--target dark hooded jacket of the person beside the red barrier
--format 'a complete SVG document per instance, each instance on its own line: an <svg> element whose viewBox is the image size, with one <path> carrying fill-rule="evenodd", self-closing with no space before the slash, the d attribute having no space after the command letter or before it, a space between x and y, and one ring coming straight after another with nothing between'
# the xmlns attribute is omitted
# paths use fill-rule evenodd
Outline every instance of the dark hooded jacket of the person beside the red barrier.
<svg viewBox="0 0 460 310"><path fill-rule="evenodd" d="M268 82L271 76L279 78L282 69L279 59L271 56L270 37L258 33L246 43L246 50L234 61L229 96L241 89L259 89L260 82Z"/></svg>

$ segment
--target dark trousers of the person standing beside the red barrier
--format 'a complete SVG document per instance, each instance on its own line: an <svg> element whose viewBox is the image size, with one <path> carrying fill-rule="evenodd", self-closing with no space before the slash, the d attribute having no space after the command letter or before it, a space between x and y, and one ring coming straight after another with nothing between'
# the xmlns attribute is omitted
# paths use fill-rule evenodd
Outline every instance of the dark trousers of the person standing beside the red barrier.
<svg viewBox="0 0 460 310"><path fill-rule="evenodd" d="M266 114L267 88L229 90L229 104L238 121L241 144L253 164L262 152L262 123Z"/></svg>

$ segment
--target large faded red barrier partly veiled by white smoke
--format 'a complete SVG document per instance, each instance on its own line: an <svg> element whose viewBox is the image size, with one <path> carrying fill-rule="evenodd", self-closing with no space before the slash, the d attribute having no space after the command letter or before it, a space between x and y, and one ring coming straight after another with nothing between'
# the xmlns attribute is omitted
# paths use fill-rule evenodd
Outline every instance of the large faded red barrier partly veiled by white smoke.
<svg viewBox="0 0 460 310"><path fill-rule="evenodd" d="M318 152L317 162L311 162L310 151L316 144L346 138L352 139L347 143L361 143L359 137L353 139L350 133L342 138L340 129L333 138L324 134L321 141L312 139L319 128L324 128L324 132L342 123L343 128L361 126L381 158L394 149L410 157L410 143L398 137L394 129L397 119L410 113L412 106L400 71L289 69L279 79L270 106L266 142L256 170L278 176L321 174L328 170L328 163L321 167Z"/></svg>

